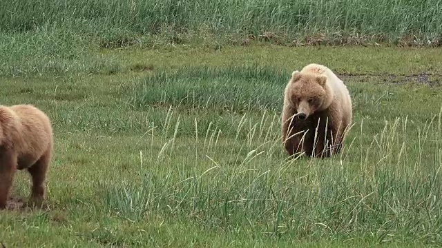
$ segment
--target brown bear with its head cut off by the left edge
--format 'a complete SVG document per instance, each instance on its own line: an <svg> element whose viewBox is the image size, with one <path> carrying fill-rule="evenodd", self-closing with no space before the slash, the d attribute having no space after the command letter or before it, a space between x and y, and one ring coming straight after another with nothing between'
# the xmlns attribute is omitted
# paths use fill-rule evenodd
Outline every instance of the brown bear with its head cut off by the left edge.
<svg viewBox="0 0 442 248"><path fill-rule="evenodd" d="M30 203L42 203L52 149L52 125L44 112L33 105L0 105L0 209L6 208L17 169L28 169L32 178Z"/></svg>

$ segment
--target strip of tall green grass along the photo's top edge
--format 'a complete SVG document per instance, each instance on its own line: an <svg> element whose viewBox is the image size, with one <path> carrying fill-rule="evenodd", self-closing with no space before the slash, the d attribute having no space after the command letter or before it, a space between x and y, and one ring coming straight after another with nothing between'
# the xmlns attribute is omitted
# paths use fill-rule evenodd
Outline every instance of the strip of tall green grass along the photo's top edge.
<svg viewBox="0 0 442 248"><path fill-rule="evenodd" d="M106 36L106 30L159 34L171 29L171 38L176 39L180 33L195 30L217 36L240 33L255 37L269 31L280 34L279 43L405 40L440 45L441 8L439 0L12 0L0 3L0 32L27 32L49 26ZM120 45L131 42L124 39Z"/></svg>

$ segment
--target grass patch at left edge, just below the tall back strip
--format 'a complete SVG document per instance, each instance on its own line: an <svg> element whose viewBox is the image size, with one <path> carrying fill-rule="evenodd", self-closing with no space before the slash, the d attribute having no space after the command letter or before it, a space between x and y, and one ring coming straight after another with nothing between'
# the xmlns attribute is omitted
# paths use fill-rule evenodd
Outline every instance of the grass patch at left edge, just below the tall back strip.
<svg viewBox="0 0 442 248"><path fill-rule="evenodd" d="M112 74L119 61L88 54L85 37L66 28L37 32L0 32L0 76Z"/></svg>

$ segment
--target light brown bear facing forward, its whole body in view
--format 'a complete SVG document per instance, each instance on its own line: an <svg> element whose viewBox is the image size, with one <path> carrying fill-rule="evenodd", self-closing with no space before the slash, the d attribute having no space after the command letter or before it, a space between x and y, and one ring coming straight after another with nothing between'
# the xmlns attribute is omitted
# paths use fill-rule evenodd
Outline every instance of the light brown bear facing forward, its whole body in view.
<svg viewBox="0 0 442 248"><path fill-rule="evenodd" d="M291 73L282 108L282 143L290 156L336 154L351 124L352 99L332 70L312 63Z"/></svg>

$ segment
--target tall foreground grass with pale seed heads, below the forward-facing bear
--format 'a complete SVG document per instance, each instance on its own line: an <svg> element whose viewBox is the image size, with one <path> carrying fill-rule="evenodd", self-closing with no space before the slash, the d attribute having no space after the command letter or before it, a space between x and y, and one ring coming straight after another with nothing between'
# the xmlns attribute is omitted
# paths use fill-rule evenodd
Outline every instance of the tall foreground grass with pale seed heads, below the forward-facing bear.
<svg viewBox="0 0 442 248"><path fill-rule="evenodd" d="M442 241L441 116L419 127L417 135L410 133L407 117L387 121L373 136L365 135L363 121L350 132L343 152L325 160L280 156L277 135L256 133L250 143L236 138L223 149L224 134L215 131L206 138L195 134L193 145L184 141L182 149L190 149L182 160L173 156L180 145L177 121L158 131L173 133L159 154L140 151L141 181L101 182L99 188L109 210L133 221L161 215L273 238L369 236L378 242L437 243Z"/></svg>

